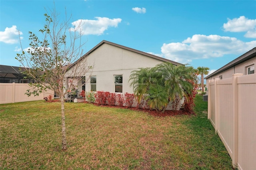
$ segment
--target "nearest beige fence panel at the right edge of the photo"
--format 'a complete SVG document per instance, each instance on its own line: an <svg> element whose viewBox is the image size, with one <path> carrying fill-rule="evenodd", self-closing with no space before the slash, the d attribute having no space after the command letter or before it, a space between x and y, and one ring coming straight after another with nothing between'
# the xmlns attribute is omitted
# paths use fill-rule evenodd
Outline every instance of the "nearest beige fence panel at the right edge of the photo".
<svg viewBox="0 0 256 170"><path fill-rule="evenodd" d="M256 74L238 77L238 169L256 169Z"/></svg>

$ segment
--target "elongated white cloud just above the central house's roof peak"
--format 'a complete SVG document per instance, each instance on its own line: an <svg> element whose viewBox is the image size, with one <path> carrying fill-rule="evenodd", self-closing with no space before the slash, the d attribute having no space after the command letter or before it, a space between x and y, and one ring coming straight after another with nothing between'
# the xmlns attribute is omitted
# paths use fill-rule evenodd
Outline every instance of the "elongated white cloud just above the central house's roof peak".
<svg viewBox="0 0 256 170"><path fill-rule="evenodd" d="M106 17L95 17L97 20L77 20L71 24L74 28L70 28L71 31L80 29L84 35L102 35L104 31L108 30L108 27L117 27L122 21L120 18L109 19Z"/></svg>

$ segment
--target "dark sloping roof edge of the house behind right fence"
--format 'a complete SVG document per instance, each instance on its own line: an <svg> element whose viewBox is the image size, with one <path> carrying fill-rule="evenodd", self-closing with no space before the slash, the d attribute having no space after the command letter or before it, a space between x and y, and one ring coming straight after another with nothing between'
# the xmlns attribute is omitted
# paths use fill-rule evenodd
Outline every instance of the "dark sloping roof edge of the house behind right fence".
<svg viewBox="0 0 256 170"><path fill-rule="evenodd" d="M225 71L227 69L230 69L248 59L251 59L253 57L256 57L256 47L254 47L253 49L251 49L250 51L244 53L243 55L241 55L240 57L234 59L233 61L231 61L230 63L224 65L223 67L221 67L220 69L214 71L212 74L206 76L204 79L208 79L211 76L214 76L218 73L221 73L222 71Z"/></svg>

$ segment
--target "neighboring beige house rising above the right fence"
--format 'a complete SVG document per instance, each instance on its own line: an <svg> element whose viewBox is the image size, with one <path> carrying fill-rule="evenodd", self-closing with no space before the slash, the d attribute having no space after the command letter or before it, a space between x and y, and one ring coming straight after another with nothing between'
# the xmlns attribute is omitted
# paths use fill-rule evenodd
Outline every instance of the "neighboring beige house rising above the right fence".
<svg viewBox="0 0 256 170"><path fill-rule="evenodd" d="M226 79L232 77L235 73L242 73L244 75L254 74L256 66L256 47L251 49L250 51L244 53L240 57L234 59L230 63L224 65L214 73L208 75L204 79L206 79L206 85L209 80L219 78Z"/></svg>

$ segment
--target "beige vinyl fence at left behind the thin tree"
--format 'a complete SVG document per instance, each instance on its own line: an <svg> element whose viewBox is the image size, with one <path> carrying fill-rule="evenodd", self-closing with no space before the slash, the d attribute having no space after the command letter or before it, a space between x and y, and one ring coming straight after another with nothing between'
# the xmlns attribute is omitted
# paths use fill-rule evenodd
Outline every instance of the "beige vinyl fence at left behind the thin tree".
<svg viewBox="0 0 256 170"><path fill-rule="evenodd" d="M43 100L48 95L54 95L53 91L41 93L39 96L25 95L26 91L31 89L26 83L0 83L0 104L17 103L24 101Z"/></svg>

